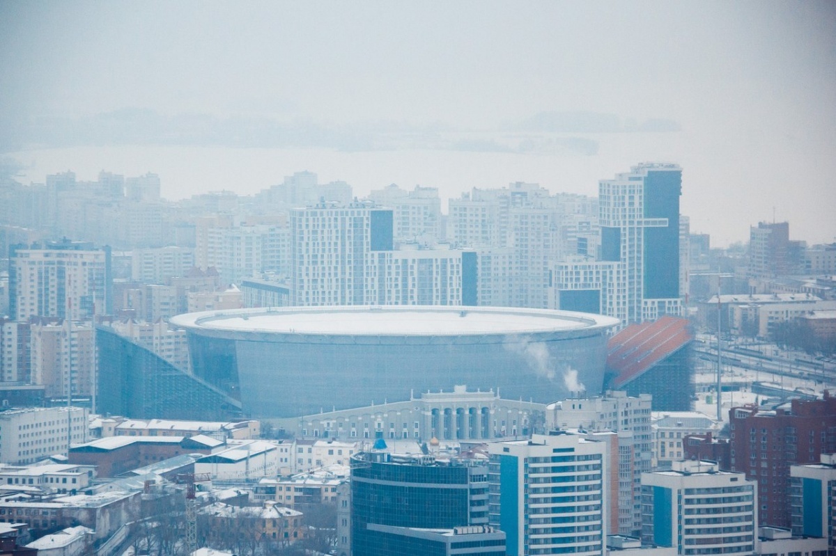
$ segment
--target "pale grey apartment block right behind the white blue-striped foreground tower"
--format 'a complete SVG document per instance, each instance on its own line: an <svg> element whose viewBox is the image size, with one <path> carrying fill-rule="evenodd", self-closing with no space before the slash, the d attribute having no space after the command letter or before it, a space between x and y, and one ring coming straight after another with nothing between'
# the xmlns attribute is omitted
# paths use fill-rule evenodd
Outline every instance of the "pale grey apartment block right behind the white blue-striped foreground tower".
<svg viewBox="0 0 836 556"><path fill-rule="evenodd" d="M612 431L618 434L619 533L637 536L641 528L641 474L651 469L653 436L650 429L650 394L627 396L607 392L604 397L571 398L546 407L546 428L577 428L584 431Z"/></svg>

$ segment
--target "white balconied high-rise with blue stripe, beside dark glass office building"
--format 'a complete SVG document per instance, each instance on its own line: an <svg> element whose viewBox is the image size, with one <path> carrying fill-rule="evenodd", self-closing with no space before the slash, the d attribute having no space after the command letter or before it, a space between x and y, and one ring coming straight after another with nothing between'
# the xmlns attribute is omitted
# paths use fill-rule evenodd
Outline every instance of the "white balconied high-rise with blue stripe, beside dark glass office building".
<svg viewBox="0 0 836 556"><path fill-rule="evenodd" d="M555 431L488 450L489 523L509 556L604 554L605 442Z"/></svg>

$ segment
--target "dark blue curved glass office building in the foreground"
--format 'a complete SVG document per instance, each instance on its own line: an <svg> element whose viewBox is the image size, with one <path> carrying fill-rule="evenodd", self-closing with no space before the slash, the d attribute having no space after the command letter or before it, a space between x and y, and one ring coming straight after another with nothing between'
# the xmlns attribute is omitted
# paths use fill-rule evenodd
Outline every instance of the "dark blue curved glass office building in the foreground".
<svg viewBox="0 0 836 556"><path fill-rule="evenodd" d="M487 468L484 463L428 455L361 452L351 461L351 553L395 556L423 553L503 554L504 537L487 525ZM456 529L480 526L476 529ZM436 531L436 534L432 531ZM448 531L438 531L445 529ZM456 533L456 530L458 533ZM442 537L437 534L441 533ZM436 552L449 548L482 548ZM473 543L456 546L457 542Z"/></svg>

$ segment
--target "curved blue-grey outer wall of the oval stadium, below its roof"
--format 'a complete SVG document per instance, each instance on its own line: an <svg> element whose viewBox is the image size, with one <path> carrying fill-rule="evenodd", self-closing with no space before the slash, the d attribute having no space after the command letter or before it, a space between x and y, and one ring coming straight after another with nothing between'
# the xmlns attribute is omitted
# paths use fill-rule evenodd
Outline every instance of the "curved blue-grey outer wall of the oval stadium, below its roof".
<svg viewBox="0 0 836 556"><path fill-rule="evenodd" d="M172 321L186 326L181 317ZM614 321L589 317L593 324L571 330L438 336L223 330L199 322L186 330L196 376L239 399L245 415L296 417L457 384L534 402L582 388L600 392Z"/></svg>

